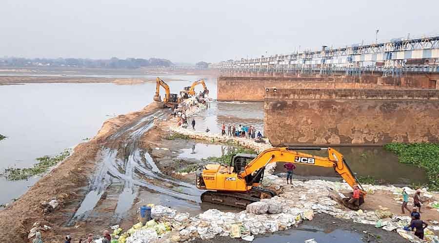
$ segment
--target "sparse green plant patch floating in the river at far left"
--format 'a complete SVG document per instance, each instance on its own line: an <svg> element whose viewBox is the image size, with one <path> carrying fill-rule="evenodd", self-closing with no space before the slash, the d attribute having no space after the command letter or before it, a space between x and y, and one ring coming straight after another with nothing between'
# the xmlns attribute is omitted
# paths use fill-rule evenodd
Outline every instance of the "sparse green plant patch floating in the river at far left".
<svg viewBox="0 0 439 243"><path fill-rule="evenodd" d="M8 180L24 180L37 174L43 174L69 155L70 151L64 150L57 156L42 156L37 158L39 162L31 168L7 168L4 170L4 174Z"/></svg>

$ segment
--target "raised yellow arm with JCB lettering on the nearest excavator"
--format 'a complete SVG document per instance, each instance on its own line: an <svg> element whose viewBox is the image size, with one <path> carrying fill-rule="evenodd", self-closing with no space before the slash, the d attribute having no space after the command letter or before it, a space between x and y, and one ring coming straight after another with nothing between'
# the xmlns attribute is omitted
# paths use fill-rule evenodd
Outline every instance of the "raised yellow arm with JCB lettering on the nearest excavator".
<svg viewBox="0 0 439 243"><path fill-rule="evenodd" d="M328 151L328 157L313 156L305 153L296 152L294 150L322 150ZM351 186L354 188L357 185L363 195L366 192L363 190L357 177L352 173L348 164L337 150L333 148L271 148L260 153L250 163L248 163L244 170L238 174L240 178L258 172L262 173L263 169L269 163L284 162L296 163L311 166L333 167L334 170ZM262 169L262 170L260 170Z"/></svg>

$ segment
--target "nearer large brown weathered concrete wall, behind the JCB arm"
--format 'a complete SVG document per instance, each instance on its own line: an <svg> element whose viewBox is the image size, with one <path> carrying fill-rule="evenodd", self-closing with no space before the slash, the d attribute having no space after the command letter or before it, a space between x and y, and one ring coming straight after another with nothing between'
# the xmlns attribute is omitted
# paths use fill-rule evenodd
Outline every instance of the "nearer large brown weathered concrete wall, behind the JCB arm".
<svg viewBox="0 0 439 243"><path fill-rule="evenodd" d="M264 134L279 144L439 142L439 90L278 89Z"/></svg>

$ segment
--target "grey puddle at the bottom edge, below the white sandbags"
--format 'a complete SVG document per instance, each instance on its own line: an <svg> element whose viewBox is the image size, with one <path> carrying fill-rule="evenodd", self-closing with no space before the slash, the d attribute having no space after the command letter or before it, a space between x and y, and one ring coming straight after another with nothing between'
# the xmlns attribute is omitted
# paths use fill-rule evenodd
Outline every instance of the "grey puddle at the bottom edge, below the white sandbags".
<svg viewBox="0 0 439 243"><path fill-rule="evenodd" d="M348 230L336 229L325 232L318 227L299 226L278 234L266 234L255 238L253 243L302 243L309 239L315 239L318 243L363 243L362 235Z"/></svg>

